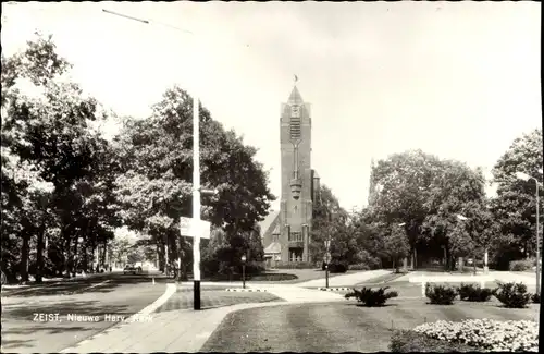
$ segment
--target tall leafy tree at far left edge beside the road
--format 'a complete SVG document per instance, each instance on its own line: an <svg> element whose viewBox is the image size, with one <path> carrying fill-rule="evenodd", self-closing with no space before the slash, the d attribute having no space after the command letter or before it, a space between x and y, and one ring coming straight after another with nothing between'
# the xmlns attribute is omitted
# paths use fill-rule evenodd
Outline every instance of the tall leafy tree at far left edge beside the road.
<svg viewBox="0 0 544 354"><path fill-rule="evenodd" d="M27 215L48 210L49 220L54 220L60 229L61 237L58 241L64 256L58 261L63 263L66 272L70 264L75 267L74 252L78 249L78 236L90 234L89 231L96 227L94 219L77 212L77 207L83 203L83 194L92 194L86 193L84 185L95 185L97 166L103 161L101 151L107 145L90 122L104 117L100 114L97 101L85 97L83 90L64 75L70 68L55 53L51 36L47 39L38 36L28 42L24 51L10 58L2 57L2 167L7 167L13 158L16 164L25 164L36 173L37 181L49 182L54 186L50 198L46 196L49 200L46 207L41 196L37 198L40 202L34 205L17 202L16 195L18 199L30 196L25 191L27 186L13 181L11 176L5 182L2 180L7 186L7 194L2 197L9 204L7 212L18 210L18 218L9 217L8 220L22 221L22 228L15 234L23 240L23 280L28 278L28 244L33 237L37 237L36 269L37 280L40 281L44 268L41 253L47 232L42 221L27 222L25 209L17 209L16 205L26 205ZM108 229L103 223L99 222L99 225Z"/></svg>

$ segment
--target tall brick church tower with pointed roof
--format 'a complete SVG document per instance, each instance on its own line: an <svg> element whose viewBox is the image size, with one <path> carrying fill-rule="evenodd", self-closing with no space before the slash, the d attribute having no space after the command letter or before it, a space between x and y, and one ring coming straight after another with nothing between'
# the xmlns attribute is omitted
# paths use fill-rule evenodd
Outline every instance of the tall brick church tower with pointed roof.
<svg viewBox="0 0 544 354"><path fill-rule="evenodd" d="M297 87L282 103L280 120L282 196L280 243L282 261L311 261L313 176L311 169L311 111Z"/></svg>

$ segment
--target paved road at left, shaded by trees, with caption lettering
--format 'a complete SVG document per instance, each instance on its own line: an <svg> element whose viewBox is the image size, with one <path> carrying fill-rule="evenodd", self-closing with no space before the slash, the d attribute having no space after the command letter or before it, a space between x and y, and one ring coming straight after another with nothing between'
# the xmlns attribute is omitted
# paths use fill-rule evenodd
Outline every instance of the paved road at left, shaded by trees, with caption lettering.
<svg viewBox="0 0 544 354"><path fill-rule="evenodd" d="M120 319L106 315L128 318L164 293L166 280L153 285L151 277L113 273L2 292L2 352L55 353L103 331Z"/></svg>

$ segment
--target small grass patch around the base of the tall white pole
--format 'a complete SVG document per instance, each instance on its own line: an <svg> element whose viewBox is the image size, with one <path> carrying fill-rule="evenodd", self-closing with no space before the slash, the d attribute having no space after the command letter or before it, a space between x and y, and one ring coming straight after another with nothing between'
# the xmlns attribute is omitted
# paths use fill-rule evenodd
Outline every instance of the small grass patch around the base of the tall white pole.
<svg viewBox="0 0 544 354"><path fill-rule="evenodd" d="M157 309L158 313L193 308L193 288L178 288L169 301ZM203 288L200 292L201 308L214 308L245 303L283 301L265 292L227 292L225 286Z"/></svg>

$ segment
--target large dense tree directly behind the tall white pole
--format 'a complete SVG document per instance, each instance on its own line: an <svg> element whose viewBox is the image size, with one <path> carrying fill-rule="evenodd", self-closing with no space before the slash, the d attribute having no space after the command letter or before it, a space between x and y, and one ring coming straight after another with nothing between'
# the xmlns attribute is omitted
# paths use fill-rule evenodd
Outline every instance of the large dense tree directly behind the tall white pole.
<svg viewBox="0 0 544 354"><path fill-rule="evenodd" d="M206 108L199 109L202 187L220 191L202 200L201 217L225 231L235 261L237 253L255 243L255 224L274 196L262 166L255 161L257 150L234 132L225 132ZM182 240L177 247L176 240L180 217L193 215L191 112L193 99L175 86L153 106L148 120L126 120L115 142L123 174L115 181L114 194L123 221L149 234L160 248L168 245L172 256L185 255L187 261L190 245Z"/></svg>

